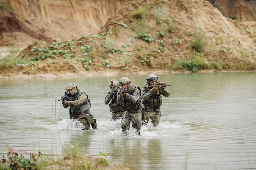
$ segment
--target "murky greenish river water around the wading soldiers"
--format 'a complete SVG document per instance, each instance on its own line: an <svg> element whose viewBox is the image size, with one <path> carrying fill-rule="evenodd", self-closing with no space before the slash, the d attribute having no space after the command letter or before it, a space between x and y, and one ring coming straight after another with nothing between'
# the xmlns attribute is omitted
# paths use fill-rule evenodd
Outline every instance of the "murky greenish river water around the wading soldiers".
<svg viewBox="0 0 256 170"><path fill-rule="evenodd" d="M110 80L124 76L0 80L0 155L10 147L62 156L77 143L81 153L103 152L132 170L256 169L255 72L158 75L171 95L159 126L143 126L141 136L132 128L124 135L104 104ZM146 76L127 75L141 88ZM58 102L70 82L89 95L97 129L81 130Z"/></svg>

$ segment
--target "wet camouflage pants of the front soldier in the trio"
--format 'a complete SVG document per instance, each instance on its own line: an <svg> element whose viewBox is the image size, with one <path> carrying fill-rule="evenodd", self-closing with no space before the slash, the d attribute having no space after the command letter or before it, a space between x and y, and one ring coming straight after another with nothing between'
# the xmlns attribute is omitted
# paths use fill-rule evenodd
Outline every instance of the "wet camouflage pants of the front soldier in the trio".
<svg viewBox="0 0 256 170"><path fill-rule="evenodd" d="M127 111L124 112L124 116L122 117L122 132L130 129L130 123L132 122L132 128L137 129L137 133L140 134L140 129L142 125L142 113L139 110L137 113L129 113Z"/></svg>

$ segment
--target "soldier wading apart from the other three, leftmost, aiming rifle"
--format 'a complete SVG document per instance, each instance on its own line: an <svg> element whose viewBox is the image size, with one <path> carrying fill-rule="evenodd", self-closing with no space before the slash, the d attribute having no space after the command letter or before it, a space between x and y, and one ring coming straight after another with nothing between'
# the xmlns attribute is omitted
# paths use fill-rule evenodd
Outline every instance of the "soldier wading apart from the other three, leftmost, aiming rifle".
<svg viewBox="0 0 256 170"><path fill-rule="evenodd" d="M70 118L80 121L85 129L90 129L90 124L92 128L97 128L96 119L93 119L90 111L90 99L85 92L80 92L74 83L68 84L65 89L69 91L70 95L67 100L62 101L62 104L64 108L70 106Z"/></svg>

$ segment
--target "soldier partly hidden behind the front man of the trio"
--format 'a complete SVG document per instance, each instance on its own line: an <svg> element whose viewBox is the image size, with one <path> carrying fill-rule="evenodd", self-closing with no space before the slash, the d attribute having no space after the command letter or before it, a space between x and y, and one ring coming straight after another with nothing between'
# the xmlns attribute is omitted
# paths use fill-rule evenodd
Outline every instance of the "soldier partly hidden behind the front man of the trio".
<svg viewBox="0 0 256 170"><path fill-rule="evenodd" d="M108 94L105 97L105 104L109 105L110 112L112 112L111 120L117 120L118 118L123 117L124 115L123 105L117 104L117 91L119 90L117 80L112 79L109 83L109 86L110 91L108 91Z"/></svg>

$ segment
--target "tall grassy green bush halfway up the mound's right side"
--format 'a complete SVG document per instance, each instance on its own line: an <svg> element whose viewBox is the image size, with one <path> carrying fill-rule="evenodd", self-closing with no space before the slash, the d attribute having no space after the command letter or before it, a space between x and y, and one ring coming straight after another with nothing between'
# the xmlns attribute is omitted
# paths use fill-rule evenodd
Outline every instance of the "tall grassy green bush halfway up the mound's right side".
<svg viewBox="0 0 256 170"><path fill-rule="evenodd" d="M197 28L194 31L193 40L191 41L191 49L202 51L206 41L206 35L202 29Z"/></svg>

